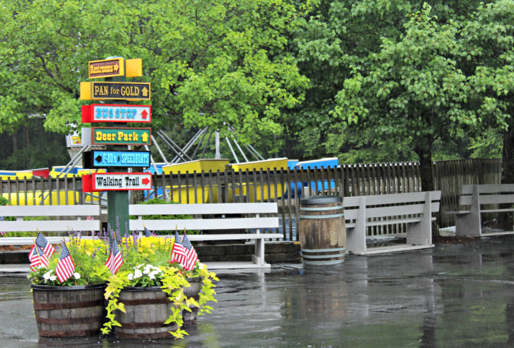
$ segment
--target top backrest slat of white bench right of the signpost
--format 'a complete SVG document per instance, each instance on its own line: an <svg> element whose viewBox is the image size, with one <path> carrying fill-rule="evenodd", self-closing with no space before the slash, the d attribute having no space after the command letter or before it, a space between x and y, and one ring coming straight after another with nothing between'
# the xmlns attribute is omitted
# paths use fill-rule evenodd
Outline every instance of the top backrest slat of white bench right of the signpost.
<svg viewBox="0 0 514 348"><path fill-rule="evenodd" d="M98 209L98 208L97 208ZM277 213L277 203L231 203L226 204L135 204L128 206L130 215L175 215L175 214L265 214Z"/></svg>

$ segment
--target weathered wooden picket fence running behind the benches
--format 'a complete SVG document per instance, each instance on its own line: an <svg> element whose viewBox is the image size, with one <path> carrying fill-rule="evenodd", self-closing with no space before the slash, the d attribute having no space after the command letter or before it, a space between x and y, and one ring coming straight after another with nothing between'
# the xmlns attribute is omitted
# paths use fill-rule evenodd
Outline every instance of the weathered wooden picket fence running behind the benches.
<svg viewBox="0 0 514 348"><path fill-rule="evenodd" d="M281 230L287 240L297 239L299 199L310 195L359 196L421 191L418 162L350 164L339 168L304 170L267 169L259 171L154 174L154 190L146 199L162 197L182 204L226 204L232 202L278 202ZM433 164L435 189L442 191L437 213L440 227L455 224L445 211L460 210L461 185L500 184L501 160L465 159L437 161ZM155 189L156 187L156 189ZM172 189L170 189L172 188ZM75 205L104 202L100 194L82 192L79 176L69 178L7 178L2 180L0 195L13 205ZM57 208L57 207L56 207ZM401 212L401 208L399 208ZM58 209L56 209L58 215ZM398 234L405 226L370 227L369 235Z"/></svg>

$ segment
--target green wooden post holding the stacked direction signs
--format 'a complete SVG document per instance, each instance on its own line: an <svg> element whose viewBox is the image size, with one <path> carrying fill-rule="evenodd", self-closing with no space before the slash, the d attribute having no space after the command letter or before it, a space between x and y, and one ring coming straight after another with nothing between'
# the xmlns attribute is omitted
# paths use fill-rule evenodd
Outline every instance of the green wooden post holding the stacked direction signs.
<svg viewBox="0 0 514 348"><path fill-rule="evenodd" d="M119 57L107 57L106 59L119 58ZM126 64L125 60L123 60L124 75L117 77L108 77L105 78L105 81L113 81L113 82L126 82ZM106 104L126 104L126 100L105 100ZM125 123L118 122L107 122L107 127L126 127ZM128 146L126 145L107 145L107 150L127 150ZM120 168L107 168L107 173L119 173L122 172ZM123 170L123 172L127 172L127 170ZM107 191L107 222L111 226L113 230L116 229L116 218L118 218L118 222L120 224L120 233L121 236L125 235L126 229L125 226L128 227L128 191ZM130 234L130 231L127 232Z"/></svg>

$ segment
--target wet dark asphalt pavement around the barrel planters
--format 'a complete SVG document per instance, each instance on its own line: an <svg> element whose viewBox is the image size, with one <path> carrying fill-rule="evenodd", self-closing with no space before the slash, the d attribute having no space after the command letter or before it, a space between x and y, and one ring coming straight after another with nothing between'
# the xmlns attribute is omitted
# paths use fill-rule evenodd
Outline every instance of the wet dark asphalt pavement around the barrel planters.
<svg viewBox="0 0 514 348"><path fill-rule="evenodd" d="M189 337L38 336L27 279L0 277L0 347L514 347L514 236L220 274Z"/></svg>

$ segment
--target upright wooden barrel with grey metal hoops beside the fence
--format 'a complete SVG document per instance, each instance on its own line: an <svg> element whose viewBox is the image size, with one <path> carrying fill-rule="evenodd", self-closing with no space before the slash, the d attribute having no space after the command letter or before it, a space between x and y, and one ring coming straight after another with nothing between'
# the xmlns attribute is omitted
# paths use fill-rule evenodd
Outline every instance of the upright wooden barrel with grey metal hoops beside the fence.
<svg viewBox="0 0 514 348"><path fill-rule="evenodd" d="M343 263L346 251L343 199L313 196L300 203L298 232L303 262L310 265Z"/></svg>

